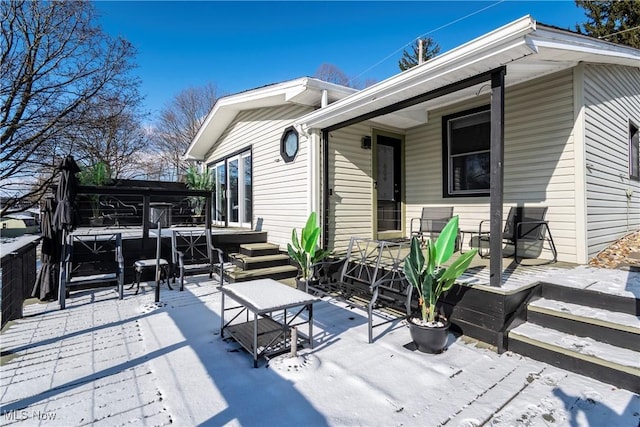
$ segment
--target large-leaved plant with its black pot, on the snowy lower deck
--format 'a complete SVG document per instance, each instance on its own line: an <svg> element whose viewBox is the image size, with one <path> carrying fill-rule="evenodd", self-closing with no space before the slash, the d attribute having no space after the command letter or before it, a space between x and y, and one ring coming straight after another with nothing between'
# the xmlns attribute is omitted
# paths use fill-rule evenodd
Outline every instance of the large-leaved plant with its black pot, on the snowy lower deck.
<svg viewBox="0 0 640 427"><path fill-rule="evenodd" d="M449 320L439 315L437 305L442 294L453 286L456 279L469 267L477 249L460 255L449 267L444 267L455 250L458 237L458 216L449 220L438 239L426 241L423 249L417 237L411 238L411 249L404 261L404 273L418 292L420 317L409 318L411 338L418 350L441 353L449 335Z"/></svg>

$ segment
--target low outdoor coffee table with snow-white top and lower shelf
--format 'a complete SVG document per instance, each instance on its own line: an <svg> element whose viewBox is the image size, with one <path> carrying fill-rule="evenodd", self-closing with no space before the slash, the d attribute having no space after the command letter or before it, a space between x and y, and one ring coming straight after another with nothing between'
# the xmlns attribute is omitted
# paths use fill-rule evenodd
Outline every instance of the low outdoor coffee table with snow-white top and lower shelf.
<svg viewBox="0 0 640 427"><path fill-rule="evenodd" d="M222 309L220 336L225 332L253 355L253 367L259 357L282 354L291 348L291 329L307 324L308 336L296 334L296 345L308 343L313 348L313 304L320 298L272 279L232 283L221 287ZM239 306L225 308L225 298ZM225 322L225 312L235 311ZM307 318L301 316L307 312ZM244 316L243 316L244 314Z"/></svg>

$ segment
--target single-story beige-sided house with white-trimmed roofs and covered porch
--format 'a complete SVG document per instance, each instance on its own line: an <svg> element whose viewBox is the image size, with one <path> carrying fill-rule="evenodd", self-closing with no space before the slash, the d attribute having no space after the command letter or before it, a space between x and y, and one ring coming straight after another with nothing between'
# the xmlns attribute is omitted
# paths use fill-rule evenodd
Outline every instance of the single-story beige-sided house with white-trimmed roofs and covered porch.
<svg viewBox="0 0 640 427"><path fill-rule="evenodd" d="M222 98L186 156L215 173L220 225L263 218L281 247L311 211L340 249L407 237L424 206L492 233L545 206L558 259L586 263L640 228L639 127L638 49L526 16L361 91L299 79Z"/></svg>

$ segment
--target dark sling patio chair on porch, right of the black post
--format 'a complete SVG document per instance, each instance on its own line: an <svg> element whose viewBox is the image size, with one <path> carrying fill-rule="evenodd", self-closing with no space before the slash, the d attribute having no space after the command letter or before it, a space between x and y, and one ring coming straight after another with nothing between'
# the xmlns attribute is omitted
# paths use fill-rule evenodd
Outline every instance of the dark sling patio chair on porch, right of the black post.
<svg viewBox="0 0 640 427"><path fill-rule="evenodd" d="M556 245L551 236L549 224L545 221L547 207L512 207L504 224L502 242L505 244L503 255L513 255L516 264L522 259L535 259L540 257L545 242L549 243L549 249L554 263L558 259ZM487 231L488 220L481 221L478 226L478 234L471 237L470 245L478 248L481 257L489 256L490 235Z"/></svg>

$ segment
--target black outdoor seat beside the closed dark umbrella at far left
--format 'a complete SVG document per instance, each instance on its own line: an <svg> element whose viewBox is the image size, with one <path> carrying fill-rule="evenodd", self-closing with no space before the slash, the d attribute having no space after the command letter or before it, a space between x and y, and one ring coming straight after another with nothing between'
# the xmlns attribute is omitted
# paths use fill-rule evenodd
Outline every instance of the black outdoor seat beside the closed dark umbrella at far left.
<svg viewBox="0 0 640 427"><path fill-rule="evenodd" d="M64 248L60 281L60 305L73 288L115 283L119 299L124 297L122 235L69 234Z"/></svg>

